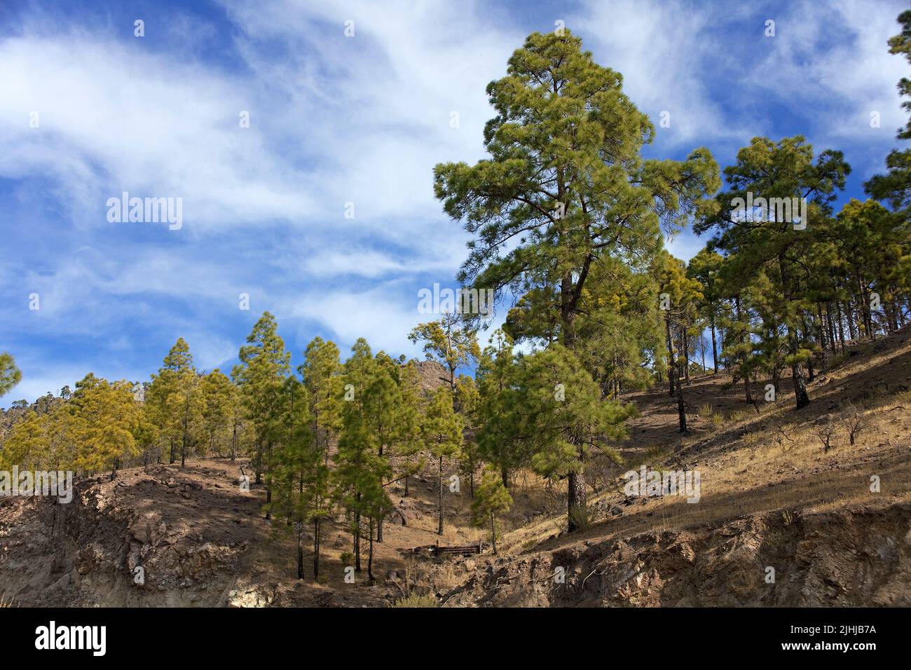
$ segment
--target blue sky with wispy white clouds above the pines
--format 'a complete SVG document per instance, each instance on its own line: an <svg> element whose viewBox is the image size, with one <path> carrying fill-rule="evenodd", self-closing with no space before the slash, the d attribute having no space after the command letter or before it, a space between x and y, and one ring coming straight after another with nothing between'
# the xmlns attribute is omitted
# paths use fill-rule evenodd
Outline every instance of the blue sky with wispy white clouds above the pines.
<svg viewBox="0 0 911 670"><path fill-rule="evenodd" d="M88 371L148 378L179 336L229 370L264 310L295 364L315 335L416 355L417 292L455 287L465 256L431 170L483 157L487 82L556 21L656 126L670 112L648 156L704 145L724 166L753 136L802 133L844 151L842 201L863 197L905 122L906 61L885 41L906 4L739 5L0 4L0 351L24 373L2 402ZM182 228L108 222L123 191L181 198ZM670 250L703 243L684 232Z"/></svg>

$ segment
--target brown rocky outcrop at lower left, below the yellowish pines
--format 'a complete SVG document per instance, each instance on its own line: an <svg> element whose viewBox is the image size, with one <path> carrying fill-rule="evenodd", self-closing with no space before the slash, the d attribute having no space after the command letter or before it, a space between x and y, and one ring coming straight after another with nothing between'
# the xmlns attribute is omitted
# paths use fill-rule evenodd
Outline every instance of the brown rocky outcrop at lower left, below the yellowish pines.
<svg viewBox="0 0 911 670"><path fill-rule="evenodd" d="M196 482L139 475L128 486L189 496ZM169 480L170 479L170 480ZM214 605L247 541L208 539L173 515L119 500L126 484L80 482L76 499L0 502L0 593L21 605ZM163 491L169 491L164 493Z"/></svg>

